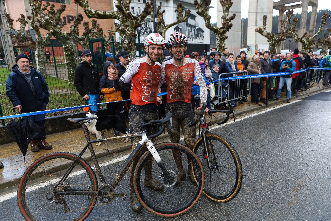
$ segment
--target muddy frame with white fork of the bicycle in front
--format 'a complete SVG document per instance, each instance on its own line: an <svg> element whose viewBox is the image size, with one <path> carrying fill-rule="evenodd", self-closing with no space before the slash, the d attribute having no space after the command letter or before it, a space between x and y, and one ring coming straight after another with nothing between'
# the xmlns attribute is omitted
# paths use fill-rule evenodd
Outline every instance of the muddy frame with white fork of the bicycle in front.
<svg viewBox="0 0 331 221"><path fill-rule="evenodd" d="M61 180L54 186L54 190L62 183L64 182L69 174L71 173L72 169L74 168L74 166L77 163L77 159L79 157L81 157L83 155L83 153L86 151L87 148L89 148L90 152L91 152L91 156L92 156L92 160L93 163L95 165L95 169L97 171L98 177L100 179L101 184L107 184L105 181L105 178L100 170L100 166L98 163L98 160L96 158L92 143L97 143L97 142L103 142L103 141L108 141L108 140L114 140L114 139L120 139L120 138L131 138L131 137L141 137L140 141L137 143L137 145L134 147L134 149L132 150L132 152L130 153L130 155L128 156L128 158L125 160L125 162L123 163L123 165L121 166L121 168L118 170L117 174L115 175L115 177L113 178L112 182L111 182L111 186L115 189L116 186L118 185L118 183L122 180L123 175L125 174L125 172L129 169L129 166L131 165L133 159L137 156L137 154L139 153L139 151L142 151L142 146L144 146L145 144L147 145L147 149L151 152L153 158L155 159L155 161L157 162L157 164L159 165L159 167L161 168L161 170L163 171L163 174L165 175L165 177L167 179L171 179L168 171L166 169L166 166L164 165L158 151L156 150L153 142L151 141L151 139L149 138L149 135L147 134L146 131L140 132L140 133L136 133L136 134L130 134L130 135L123 135L123 136L118 136L118 137L113 137L113 138L104 138L104 139L99 139L99 140L90 140L89 137L89 131L87 129L87 127L82 124L82 128L84 130L84 134L85 134L85 139L87 141L87 144L84 146L84 148L82 149L82 151L78 154L78 157L74 160L74 162L71 164L71 166L68 168L68 170L66 171L66 173L64 174L64 176L61 178ZM56 192L56 195L92 195L94 193L97 193L98 191L90 191L90 190L75 190L75 189L70 189L70 191L68 192ZM115 193L116 194L116 193ZM117 195L113 195L113 197L116 197ZM118 195L118 197L123 196L123 195Z"/></svg>

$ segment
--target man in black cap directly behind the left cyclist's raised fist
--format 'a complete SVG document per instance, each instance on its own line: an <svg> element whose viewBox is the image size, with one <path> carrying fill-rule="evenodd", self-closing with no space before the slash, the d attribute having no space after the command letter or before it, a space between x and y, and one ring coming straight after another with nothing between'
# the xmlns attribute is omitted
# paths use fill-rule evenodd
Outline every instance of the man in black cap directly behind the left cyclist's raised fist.
<svg viewBox="0 0 331 221"><path fill-rule="evenodd" d="M119 62L115 65L115 68L117 68L118 77L120 78L126 71L126 67L129 63L129 55L127 54L127 51L120 51L117 56L118 56ZM126 84L121 89L121 94L122 94L123 100L129 100L129 101L126 101L128 110L130 109L130 106L131 106L130 90L131 90L130 83Z"/></svg>

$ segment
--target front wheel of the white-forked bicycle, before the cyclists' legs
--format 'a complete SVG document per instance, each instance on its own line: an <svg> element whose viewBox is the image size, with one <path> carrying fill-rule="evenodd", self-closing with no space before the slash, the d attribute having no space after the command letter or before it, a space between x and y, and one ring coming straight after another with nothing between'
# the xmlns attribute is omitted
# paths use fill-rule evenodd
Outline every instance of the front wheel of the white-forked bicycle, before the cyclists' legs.
<svg viewBox="0 0 331 221"><path fill-rule="evenodd" d="M162 147L164 147L164 149ZM152 208L153 211L158 211L158 214L164 212L165 210L171 211L170 214L175 214L176 212L185 210L185 208L187 208L190 203L196 202L196 194L199 193L197 192L197 188L201 188L201 186L197 185L196 182L191 181L189 176L184 177L177 184L174 183L176 181L176 176L179 172L178 168L181 168L180 161L183 168L187 168L188 166L186 154L180 151L182 147L176 147L178 149L174 147L176 146L165 145L160 146L160 149L158 149L158 153L166 166L168 175L174 179L173 183L171 183L171 181L167 180L165 175L161 176L160 178L155 177L158 179L159 182L164 184L164 188L162 191L157 191L152 188L144 187L144 185L142 184L144 180L143 162L147 161L147 157L144 158L143 161L141 159L141 161L138 162L136 171L138 170L138 168L141 168L141 170L139 170L139 175L137 174L136 177L136 179L139 177L139 180L136 180L135 182L136 184L139 184L139 186L136 185L135 188L138 188L137 192L139 193L144 202L143 205L147 205L147 207L145 206L145 208L150 212L152 212L150 209ZM174 150L179 150L179 152L173 152ZM140 162L142 164L139 164ZM156 164L154 159L152 164ZM195 162L194 168L197 168ZM152 174L159 174L159 171L160 168L158 166L152 166ZM184 169L184 171L186 172L186 169ZM201 182L201 172L199 174L200 175L198 177L198 181Z"/></svg>

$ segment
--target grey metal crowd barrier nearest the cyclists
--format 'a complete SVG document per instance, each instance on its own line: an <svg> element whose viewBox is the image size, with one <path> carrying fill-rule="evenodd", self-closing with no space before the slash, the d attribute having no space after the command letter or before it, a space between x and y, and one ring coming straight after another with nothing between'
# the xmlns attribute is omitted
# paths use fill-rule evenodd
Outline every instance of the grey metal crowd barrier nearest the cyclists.
<svg viewBox="0 0 331 221"><path fill-rule="evenodd" d="M246 76L249 75L247 72L231 72L231 73L222 73L218 76L218 79L225 77L232 77L233 74L237 76ZM220 80L219 83L215 82L215 97L213 98L214 105L220 105L228 101L237 101L238 106L241 101L251 94L251 81L252 79L236 79L232 80Z"/></svg>

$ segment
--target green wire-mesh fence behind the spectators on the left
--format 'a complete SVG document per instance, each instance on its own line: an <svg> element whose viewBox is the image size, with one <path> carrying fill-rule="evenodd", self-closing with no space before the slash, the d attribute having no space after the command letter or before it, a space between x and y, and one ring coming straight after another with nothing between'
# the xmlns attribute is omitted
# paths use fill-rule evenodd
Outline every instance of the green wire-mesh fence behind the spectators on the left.
<svg viewBox="0 0 331 221"><path fill-rule="evenodd" d="M143 39L145 37L141 37L138 33L136 38L136 57L140 57L142 51L139 50L143 46ZM0 35L0 40L2 43L2 50L0 49L0 115L1 116L9 116L17 114L17 112L13 112L13 105L8 99L6 95L6 80L8 74L11 72L11 66L16 64L14 56L11 56L15 53L15 57L18 54L25 53L30 57L32 67L35 67L38 71L40 67L37 67L36 59L34 56L35 50L31 47L22 47L21 44L14 42L13 37L10 35ZM35 39L35 38L34 38ZM8 44L4 42L11 41L13 43L12 48L8 48ZM111 36L110 38L98 38L98 39L90 39L88 44L89 49L95 53L98 47L101 47L101 55L102 62L106 60L106 53L110 52L113 55L116 55L122 48L120 46L121 39ZM24 43L24 42L23 42ZM7 47L6 47L7 45ZM15 47L16 46L16 47ZM76 64L82 61L82 58L78 56L78 49L81 51L84 50L84 47L80 44L76 46ZM83 99L80 94L77 92L76 88L73 84L68 83L68 69L66 66L66 58L64 55L63 45L59 42L58 39L50 39L50 43L48 46L44 48L44 52L46 49L50 52L49 55L45 55L45 80L48 84L48 89L50 93L49 103L47 105L47 109L54 108L62 108L62 107L70 107L76 105L82 105ZM109 55L109 54L107 54ZM12 59L9 59L12 57ZM118 57L113 56L116 62L118 62ZM130 58L135 59L135 58ZM92 60L93 62L93 60ZM103 72L103 67L100 68L99 72ZM81 111L78 109L77 111ZM2 125L5 125L8 121L2 121Z"/></svg>

